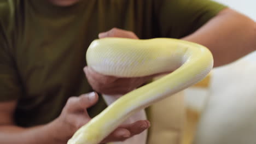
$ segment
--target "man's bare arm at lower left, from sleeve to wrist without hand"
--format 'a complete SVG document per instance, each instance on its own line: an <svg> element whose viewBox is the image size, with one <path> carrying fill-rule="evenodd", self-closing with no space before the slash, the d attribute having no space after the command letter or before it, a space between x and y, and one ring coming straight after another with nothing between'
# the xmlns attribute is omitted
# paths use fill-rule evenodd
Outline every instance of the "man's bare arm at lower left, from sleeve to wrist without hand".
<svg viewBox="0 0 256 144"><path fill-rule="evenodd" d="M60 143L55 139L55 130L50 126L55 124L33 128L15 126L13 113L16 103L14 100L0 104L0 143Z"/></svg>

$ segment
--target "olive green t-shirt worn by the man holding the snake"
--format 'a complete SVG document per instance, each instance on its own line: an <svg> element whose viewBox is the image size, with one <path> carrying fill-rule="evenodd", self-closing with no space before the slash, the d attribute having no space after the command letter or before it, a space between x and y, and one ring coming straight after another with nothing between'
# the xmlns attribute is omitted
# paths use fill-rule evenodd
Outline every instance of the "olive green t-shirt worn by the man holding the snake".
<svg viewBox="0 0 256 144"><path fill-rule="evenodd" d="M141 39L182 38L223 8L208 0L0 0L0 101L18 100L22 127L53 121L69 97L92 91L83 67L98 33L117 27ZM89 113L105 107L101 98Z"/></svg>

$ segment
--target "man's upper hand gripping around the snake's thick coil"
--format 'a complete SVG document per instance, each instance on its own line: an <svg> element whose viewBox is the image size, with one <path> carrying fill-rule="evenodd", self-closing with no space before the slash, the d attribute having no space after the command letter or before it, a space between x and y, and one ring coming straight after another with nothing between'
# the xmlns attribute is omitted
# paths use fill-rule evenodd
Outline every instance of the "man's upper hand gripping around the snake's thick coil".
<svg viewBox="0 0 256 144"><path fill-rule="evenodd" d="M99 38L118 37L138 39L137 35L130 31L125 31L118 28L112 28L110 31L98 34ZM91 87L99 93L104 94L125 94L133 89L141 86L153 76L135 77L135 78L121 78L114 76L102 75L94 71L90 67L84 68L85 75Z"/></svg>

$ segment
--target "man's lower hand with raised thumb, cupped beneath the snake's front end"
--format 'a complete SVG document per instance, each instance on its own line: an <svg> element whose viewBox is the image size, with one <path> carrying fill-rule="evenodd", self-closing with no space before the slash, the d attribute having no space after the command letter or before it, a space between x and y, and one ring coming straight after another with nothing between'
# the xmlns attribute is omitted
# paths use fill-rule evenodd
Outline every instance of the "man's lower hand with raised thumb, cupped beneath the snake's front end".
<svg viewBox="0 0 256 144"><path fill-rule="evenodd" d="M66 106L56 121L53 122L56 128L56 139L67 141L80 127L90 121L90 116L86 109L94 105L98 100L98 95L94 92L83 94L79 97L68 99ZM102 143L113 141L124 141L133 135L137 135L149 128L149 121L137 121L132 124L121 125L106 137Z"/></svg>

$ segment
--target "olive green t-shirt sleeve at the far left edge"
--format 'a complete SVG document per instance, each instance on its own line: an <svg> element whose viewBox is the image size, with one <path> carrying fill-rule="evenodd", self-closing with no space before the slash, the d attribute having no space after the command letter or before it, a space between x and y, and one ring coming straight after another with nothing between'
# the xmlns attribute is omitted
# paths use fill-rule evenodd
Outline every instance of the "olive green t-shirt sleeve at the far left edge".
<svg viewBox="0 0 256 144"><path fill-rule="evenodd" d="M15 100L21 95L18 73L9 48L7 35L0 25L0 101Z"/></svg>

